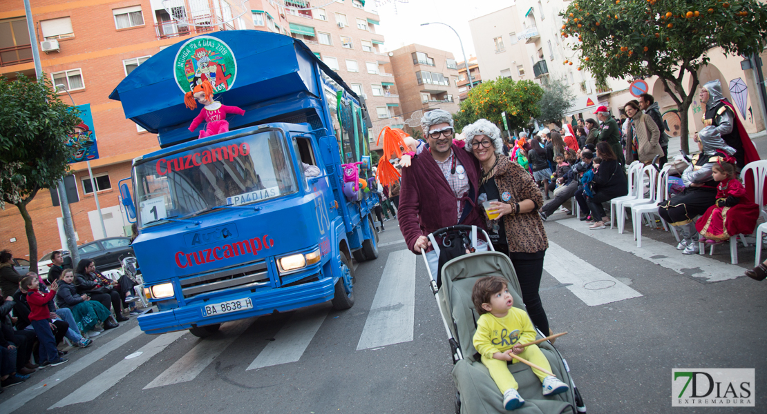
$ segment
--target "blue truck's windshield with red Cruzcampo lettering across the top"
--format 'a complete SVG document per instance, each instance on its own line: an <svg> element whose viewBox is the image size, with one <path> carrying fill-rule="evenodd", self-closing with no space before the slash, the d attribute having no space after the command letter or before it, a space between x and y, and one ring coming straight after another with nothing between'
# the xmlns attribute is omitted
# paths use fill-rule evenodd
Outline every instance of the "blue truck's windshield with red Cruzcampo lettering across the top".
<svg viewBox="0 0 767 414"><path fill-rule="evenodd" d="M136 166L141 226L298 190L281 131L197 147Z"/></svg>

